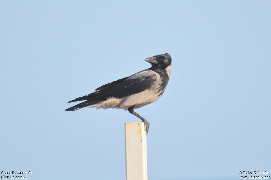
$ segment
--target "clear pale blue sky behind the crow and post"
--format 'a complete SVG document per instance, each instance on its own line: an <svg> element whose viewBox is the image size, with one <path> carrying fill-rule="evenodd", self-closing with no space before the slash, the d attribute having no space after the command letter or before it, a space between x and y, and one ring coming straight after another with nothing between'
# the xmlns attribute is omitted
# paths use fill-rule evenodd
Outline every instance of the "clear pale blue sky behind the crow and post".
<svg viewBox="0 0 271 180"><path fill-rule="evenodd" d="M125 179L127 111L64 109L168 52L150 122L148 178L267 171L270 1L1 1L0 171L28 179Z"/></svg>

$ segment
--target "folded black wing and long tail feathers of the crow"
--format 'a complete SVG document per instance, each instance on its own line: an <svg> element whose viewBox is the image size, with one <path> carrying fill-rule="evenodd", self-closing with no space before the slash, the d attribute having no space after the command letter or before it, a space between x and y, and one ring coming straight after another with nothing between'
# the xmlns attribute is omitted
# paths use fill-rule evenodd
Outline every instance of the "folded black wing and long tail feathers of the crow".
<svg viewBox="0 0 271 180"><path fill-rule="evenodd" d="M75 102L75 101L87 100L71 108L68 108L65 111L75 111L77 109L80 109L86 106L91 106L99 102L105 101L109 97L121 98L123 96L142 92L150 88L152 85L154 85L155 82L156 82L155 74L151 74L148 76L141 76L134 79L132 78L128 79L128 77L122 78L122 79L119 79L117 81L108 83L106 85L103 85L97 88L95 92L89 95L69 101L69 102Z"/></svg>

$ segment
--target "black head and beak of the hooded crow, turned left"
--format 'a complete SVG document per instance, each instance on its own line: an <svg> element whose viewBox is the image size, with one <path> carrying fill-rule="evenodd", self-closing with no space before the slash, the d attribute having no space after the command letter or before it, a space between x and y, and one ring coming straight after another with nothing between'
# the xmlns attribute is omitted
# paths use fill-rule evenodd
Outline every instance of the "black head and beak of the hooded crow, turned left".
<svg viewBox="0 0 271 180"><path fill-rule="evenodd" d="M171 65L171 57L168 53L146 58L145 61L152 65L151 68L161 68L162 70Z"/></svg>

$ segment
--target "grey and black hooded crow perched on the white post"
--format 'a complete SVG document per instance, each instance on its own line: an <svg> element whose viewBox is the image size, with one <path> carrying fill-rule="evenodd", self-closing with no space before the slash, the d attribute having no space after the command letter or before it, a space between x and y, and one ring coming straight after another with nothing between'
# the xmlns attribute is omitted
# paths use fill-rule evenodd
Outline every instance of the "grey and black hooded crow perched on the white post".
<svg viewBox="0 0 271 180"><path fill-rule="evenodd" d="M171 75L171 56L168 53L146 58L151 67L126 78L105 84L91 94L76 98L71 102L84 101L67 108L65 111L75 111L84 107L96 109L117 108L128 110L144 122L146 134L149 132L149 122L134 111L147 104L157 101L164 93Z"/></svg>

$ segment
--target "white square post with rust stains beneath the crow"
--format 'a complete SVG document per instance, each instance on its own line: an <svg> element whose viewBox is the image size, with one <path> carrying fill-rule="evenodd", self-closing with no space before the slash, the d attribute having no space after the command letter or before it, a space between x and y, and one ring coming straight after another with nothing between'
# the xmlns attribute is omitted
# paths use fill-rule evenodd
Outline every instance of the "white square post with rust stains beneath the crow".
<svg viewBox="0 0 271 180"><path fill-rule="evenodd" d="M125 123L126 180L147 180L147 139L144 122Z"/></svg>

